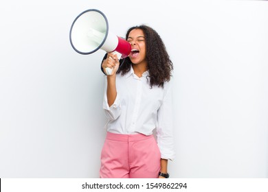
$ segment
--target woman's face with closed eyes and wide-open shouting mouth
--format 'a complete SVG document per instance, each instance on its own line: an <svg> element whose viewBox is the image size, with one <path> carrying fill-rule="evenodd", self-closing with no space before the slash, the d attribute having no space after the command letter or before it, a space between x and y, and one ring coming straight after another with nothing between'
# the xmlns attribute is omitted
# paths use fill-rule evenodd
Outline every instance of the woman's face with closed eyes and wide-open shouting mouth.
<svg viewBox="0 0 268 192"><path fill-rule="evenodd" d="M145 45L145 36L142 29L133 29L129 33L127 39L131 43L131 53L129 58L133 64L146 64L146 45Z"/></svg>

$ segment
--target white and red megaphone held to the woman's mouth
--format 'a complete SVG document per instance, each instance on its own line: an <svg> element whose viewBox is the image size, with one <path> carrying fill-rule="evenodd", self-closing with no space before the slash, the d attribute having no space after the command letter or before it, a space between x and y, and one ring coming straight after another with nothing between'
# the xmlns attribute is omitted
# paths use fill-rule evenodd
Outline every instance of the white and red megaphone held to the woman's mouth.
<svg viewBox="0 0 268 192"><path fill-rule="evenodd" d="M83 55L98 49L115 52L118 58L126 58L131 53L130 43L110 32L107 17L96 9L85 10L76 17L71 25L69 40L71 47ZM107 68L108 75L111 71Z"/></svg>

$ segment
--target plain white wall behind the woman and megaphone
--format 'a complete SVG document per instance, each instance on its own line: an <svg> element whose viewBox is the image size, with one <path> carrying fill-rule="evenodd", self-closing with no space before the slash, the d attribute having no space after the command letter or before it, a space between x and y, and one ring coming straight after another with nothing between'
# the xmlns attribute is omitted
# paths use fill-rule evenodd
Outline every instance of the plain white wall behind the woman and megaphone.
<svg viewBox="0 0 268 192"><path fill-rule="evenodd" d="M153 27L174 63L172 178L268 178L267 1L0 3L0 178L98 178L104 51L71 48L76 16Z"/></svg>

